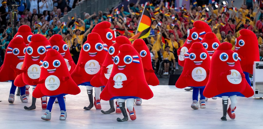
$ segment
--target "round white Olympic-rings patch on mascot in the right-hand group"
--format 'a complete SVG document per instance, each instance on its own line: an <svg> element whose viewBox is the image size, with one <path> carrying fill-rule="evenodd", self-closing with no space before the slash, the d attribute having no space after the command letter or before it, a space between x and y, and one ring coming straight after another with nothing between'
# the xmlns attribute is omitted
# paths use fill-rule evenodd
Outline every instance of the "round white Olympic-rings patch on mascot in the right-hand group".
<svg viewBox="0 0 263 129"><path fill-rule="evenodd" d="M206 78L206 71L202 67L196 67L192 71L192 78L195 81L204 81Z"/></svg>

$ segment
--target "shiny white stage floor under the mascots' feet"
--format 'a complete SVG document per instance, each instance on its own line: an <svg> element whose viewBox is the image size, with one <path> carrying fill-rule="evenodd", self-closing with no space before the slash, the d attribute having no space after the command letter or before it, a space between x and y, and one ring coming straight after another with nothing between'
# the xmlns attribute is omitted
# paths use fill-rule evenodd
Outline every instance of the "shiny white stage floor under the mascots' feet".
<svg viewBox="0 0 263 129"><path fill-rule="evenodd" d="M102 114L93 107L84 110L89 105L87 90L80 86L78 95L66 95L67 119L60 121L60 109L58 104L53 105L50 121L41 119L45 112L41 108L41 99L37 99L35 110L24 110L24 106L30 106L32 101L32 87L28 103L22 103L19 96L15 96L13 104L8 103L11 83L0 82L0 128L263 128L263 100L253 97L237 97L236 119L221 121L222 99L209 99L206 101L206 109L194 110L192 103L192 91L178 89L175 86L159 85L150 86L154 97L143 100L142 105L134 105L137 119L126 122L117 122L117 117L122 114ZM93 93L94 95L94 93ZM230 101L230 100L229 100ZM101 101L102 109L109 109L108 101ZM115 101L114 101L115 105Z"/></svg>

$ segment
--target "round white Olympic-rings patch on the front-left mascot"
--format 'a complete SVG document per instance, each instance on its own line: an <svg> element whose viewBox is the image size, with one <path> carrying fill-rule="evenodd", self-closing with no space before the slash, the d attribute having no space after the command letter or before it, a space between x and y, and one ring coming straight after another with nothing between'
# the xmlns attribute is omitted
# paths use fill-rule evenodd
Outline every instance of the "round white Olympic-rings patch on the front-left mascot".
<svg viewBox="0 0 263 129"><path fill-rule="evenodd" d="M45 80L45 86L48 90L57 90L60 85L60 80L57 76L50 75Z"/></svg>

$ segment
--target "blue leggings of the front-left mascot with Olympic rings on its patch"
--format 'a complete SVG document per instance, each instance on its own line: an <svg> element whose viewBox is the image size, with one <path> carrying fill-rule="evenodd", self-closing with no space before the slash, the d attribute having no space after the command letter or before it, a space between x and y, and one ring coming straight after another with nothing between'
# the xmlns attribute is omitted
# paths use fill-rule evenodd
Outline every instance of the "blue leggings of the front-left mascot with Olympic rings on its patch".
<svg viewBox="0 0 263 129"><path fill-rule="evenodd" d="M64 102L63 95L59 95L59 96L56 96L56 97L58 98L58 104L59 104L59 107L60 107L60 111L61 110L66 111L66 105L65 105L65 102ZM52 106L54 104L54 101L55 101L56 97L49 97L47 110L49 110L50 112L52 110Z"/></svg>

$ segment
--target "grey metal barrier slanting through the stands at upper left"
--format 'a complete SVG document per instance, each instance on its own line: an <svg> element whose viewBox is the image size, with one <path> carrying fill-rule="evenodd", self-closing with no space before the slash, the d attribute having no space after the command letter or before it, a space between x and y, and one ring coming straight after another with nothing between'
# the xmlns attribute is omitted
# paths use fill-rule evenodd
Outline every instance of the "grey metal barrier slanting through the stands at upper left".
<svg viewBox="0 0 263 129"><path fill-rule="evenodd" d="M106 11L107 8L112 9L117 6L122 0L86 0L83 1L80 5L76 6L74 9L68 12L68 14L64 15L64 17L60 18L61 22L67 22L68 16L74 17L76 13L78 17L84 19L84 12L89 13L90 15L93 12L98 14L98 11Z"/></svg>

